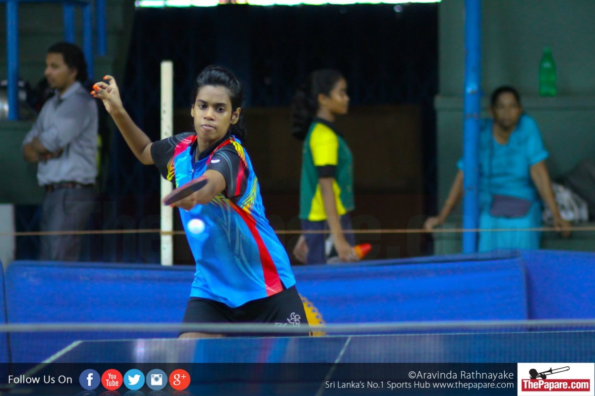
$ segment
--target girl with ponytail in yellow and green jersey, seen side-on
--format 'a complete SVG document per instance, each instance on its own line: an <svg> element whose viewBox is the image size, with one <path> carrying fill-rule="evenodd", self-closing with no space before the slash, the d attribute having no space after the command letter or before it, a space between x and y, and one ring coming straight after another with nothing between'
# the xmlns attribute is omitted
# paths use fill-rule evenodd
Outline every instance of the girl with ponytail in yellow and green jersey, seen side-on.
<svg viewBox="0 0 595 396"><path fill-rule="evenodd" d="M303 140L300 185L302 234L293 253L306 264L326 262L324 230L330 230L342 262L358 260L349 212L353 202L353 157L333 122L347 114L347 81L339 71L316 70L292 102L292 134Z"/></svg>

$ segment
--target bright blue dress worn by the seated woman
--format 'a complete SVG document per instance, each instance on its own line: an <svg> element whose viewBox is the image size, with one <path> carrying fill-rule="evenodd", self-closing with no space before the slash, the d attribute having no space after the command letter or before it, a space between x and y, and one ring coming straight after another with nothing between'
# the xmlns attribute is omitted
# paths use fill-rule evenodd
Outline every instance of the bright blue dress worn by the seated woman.
<svg viewBox="0 0 595 396"><path fill-rule="evenodd" d="M541 227L541 200L531 180L530 168L549 156L543 146L537 123L522 115L508 143L499 144L492 134L491 120L484 120L480 131L480 222L479 228ZM490 164L491 162L491 164ZM463 160L458 168L463 170ZM502 194L531 201L527 215L519 218L496 217L490 214L493 194ZM479 252L495 249L539 249L541 232L483 231L479 233Z"/></svg>

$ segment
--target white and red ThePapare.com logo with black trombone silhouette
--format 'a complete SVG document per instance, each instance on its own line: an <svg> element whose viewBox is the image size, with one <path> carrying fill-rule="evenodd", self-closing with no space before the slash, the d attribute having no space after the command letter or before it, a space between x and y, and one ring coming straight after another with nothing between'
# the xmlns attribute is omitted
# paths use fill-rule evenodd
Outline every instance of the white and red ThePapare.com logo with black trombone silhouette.
<svg viewBox="0 0 595 396"><path fill-rule="evenodd" d="M595 396L595 363L518 363L519 395Z"/></svg>

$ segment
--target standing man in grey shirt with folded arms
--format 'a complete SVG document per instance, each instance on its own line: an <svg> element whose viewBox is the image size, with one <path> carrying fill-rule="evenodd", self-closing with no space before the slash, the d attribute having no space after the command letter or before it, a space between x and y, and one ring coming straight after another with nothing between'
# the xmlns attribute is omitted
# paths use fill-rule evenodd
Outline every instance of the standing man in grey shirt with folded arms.
<svg viewBox="0 0 595 396"><path fill-rule="evenodd" d="M98 109L83 87L83 52L71 43L52 45L45 77L55 95L43 105L22 146L23 158L38 164L37 181L46 190L41 230L85 230L95 201ZM42 236L40 259L77 260L81 247L77 235Z"/></svg>

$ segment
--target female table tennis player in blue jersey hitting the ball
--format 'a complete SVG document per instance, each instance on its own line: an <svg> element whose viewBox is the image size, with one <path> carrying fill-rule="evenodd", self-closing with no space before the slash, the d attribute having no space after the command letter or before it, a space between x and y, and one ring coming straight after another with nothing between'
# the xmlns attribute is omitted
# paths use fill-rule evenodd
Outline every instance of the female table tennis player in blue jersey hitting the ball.
<svg viewBox="0 0 595 396"><path fill-rule="evenodd" d="M196 261L183 322L307 326L289 258L265 218L258 180L242 146L240 81L225 68L205 68L192 95L195 132L151 142L124 110L114 78L104 80L91 94L103 100L140 162L155 164L176 187L199 177L207 182L173 204L180 208ZM193 219L203 222L202 232L189 230ZM186 332L180 337L212 335Z"/></svg>

